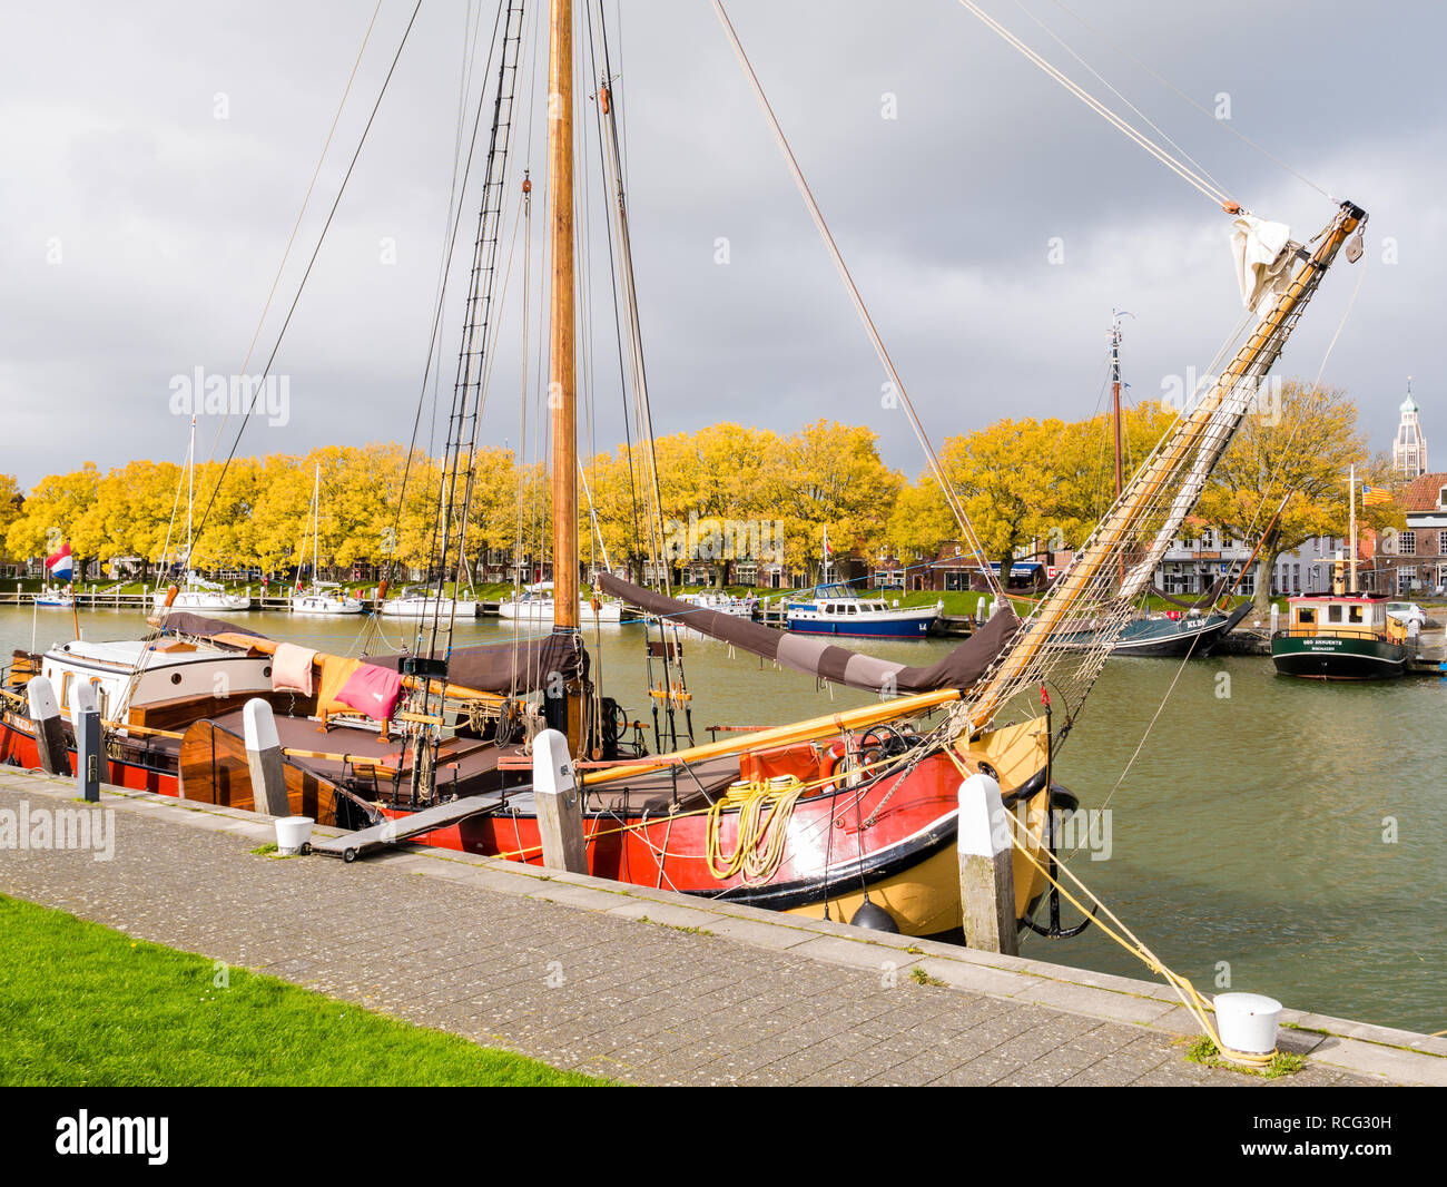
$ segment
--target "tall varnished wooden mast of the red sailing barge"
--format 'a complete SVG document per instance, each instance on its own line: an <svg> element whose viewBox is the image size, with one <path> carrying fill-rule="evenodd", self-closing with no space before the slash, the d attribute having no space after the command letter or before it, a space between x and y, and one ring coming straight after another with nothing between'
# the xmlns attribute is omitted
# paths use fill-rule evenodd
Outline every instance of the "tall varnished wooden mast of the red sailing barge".
<svg viewBox="0 0 1447 1187"><path fill-rule="evenodd" d="M551 0L548 38L548 229L553 297L548 408L553 414L553 630L576 634L577 602L577 388L573 263L573 1ZM564 699L569 750L583 734L582 689Z"/></svg>

